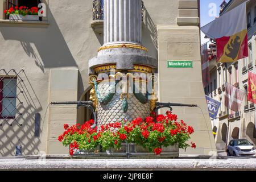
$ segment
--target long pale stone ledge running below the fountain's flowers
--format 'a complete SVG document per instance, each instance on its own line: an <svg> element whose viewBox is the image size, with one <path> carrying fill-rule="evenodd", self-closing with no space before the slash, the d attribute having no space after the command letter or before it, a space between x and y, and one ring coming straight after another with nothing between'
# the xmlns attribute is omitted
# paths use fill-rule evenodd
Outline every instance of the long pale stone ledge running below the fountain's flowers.
<svg viewBox="0 0 256 182"><path fill-rule="evenodd" d="M253 170L256 159L0 159L0 170Z"/></svg>

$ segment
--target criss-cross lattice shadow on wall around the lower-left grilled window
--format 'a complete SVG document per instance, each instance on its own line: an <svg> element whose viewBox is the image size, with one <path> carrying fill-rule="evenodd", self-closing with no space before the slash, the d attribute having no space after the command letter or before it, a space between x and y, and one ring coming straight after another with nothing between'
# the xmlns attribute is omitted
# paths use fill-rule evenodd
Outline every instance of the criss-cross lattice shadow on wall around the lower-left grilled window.
<svg viewBox="0 0 256 182"><path fill-rule="evenodd" d="M18 105L17 110L22 113L18 117L16 114L16 121L14 119L7 119L3 121L1 119L2 126L0 126L0 156L15 155L15 148L17 145L22 145L22 155L36 155L39 154L40 138L35 136L35 114L42 111L42 105L40 104L38 97L36 96L34 89L32 88L26 73L20 74L17 77L23 81L17 84L17 99L16 102L22 101L22 105ZM23 91L23 93L18 93ZM40 118L42 121L42 118ZM13 123L12 126L10 124ZM19 124L22 124L20 126ZM42 126L44 123L40 123L40 133L42 133Z"/></svg>

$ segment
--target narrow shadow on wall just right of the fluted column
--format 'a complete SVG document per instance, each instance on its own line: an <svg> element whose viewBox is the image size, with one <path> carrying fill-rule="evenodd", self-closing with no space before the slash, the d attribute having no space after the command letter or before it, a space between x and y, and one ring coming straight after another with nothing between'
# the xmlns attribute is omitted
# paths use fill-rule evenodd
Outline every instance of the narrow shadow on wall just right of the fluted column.
<svg viewBox="0 0 256 182"><path fill-rule="evenodd" d="M151 19L146 7L144 7L144 24L142 27L142 44L147 47L148 53L158 59L158 31L156 25Z"/></svg>

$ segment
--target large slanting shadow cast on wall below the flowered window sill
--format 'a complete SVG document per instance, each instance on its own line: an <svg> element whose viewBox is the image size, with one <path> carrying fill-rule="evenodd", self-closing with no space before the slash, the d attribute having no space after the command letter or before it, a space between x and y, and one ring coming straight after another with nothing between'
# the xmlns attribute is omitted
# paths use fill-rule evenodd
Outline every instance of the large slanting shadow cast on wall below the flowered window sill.
<svg viewBox="0 0 256 182"><path fill-rule="evenodd" d="M77 68L76 61L50 10L48 16L47 27L20 27L20 24L18 27L7 27L8 24L0 24L0 32L5 40L18 40L24 52L35 60L35 64L43 72L45 68Z"/></svg>

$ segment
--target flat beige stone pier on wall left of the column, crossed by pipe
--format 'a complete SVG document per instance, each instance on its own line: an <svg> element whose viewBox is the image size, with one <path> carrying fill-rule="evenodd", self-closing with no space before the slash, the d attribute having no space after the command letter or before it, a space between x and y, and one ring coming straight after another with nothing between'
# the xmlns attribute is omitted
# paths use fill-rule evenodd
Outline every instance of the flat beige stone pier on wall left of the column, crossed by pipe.
<svg viewBox="0 0 256 182"><path fill-rule="evenodd" d="M49 80L49 103L77 100L78 69L51 69ZM67 154L57 138L63 125L77 123L76 105L49 105L47 154Z"/></svg>

